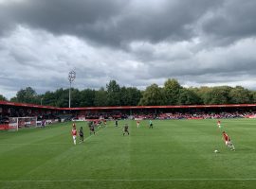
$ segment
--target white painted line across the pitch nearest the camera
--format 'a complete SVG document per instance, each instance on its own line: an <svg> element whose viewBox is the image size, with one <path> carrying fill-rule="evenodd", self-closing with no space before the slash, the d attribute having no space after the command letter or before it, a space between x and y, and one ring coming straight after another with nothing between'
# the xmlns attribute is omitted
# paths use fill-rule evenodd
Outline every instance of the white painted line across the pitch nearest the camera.
<svg viewBox="0 0 256 189"><path fill-rule="evenodd" d="M198 179L189 179L189 178L180 178L180 179L131 179L131 180L0 180L0 182L77 182L77 181L231 181L231 180L256 180L256 178L224 178L224 179L207 179L207 178L198 178Z"/></svg>

